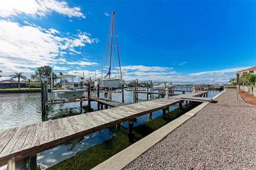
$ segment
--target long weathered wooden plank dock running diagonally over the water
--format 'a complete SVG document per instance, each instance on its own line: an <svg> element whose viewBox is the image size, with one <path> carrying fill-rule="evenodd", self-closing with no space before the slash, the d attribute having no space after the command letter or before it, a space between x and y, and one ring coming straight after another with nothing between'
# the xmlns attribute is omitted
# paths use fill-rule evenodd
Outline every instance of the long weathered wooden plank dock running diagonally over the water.
<svg viewBox="0 0 256 170"><path fill-rule="evenodd" d="M24 160L44 150L121 122L133 120L141 115L166 109L169 106L183 102L184 99L182 98L184 97L202 96L204 94L207 94L207 91L181 94L136 104L123 104L123 106L120 106L120 102L110 104L108 102L112 101L94 98L95 101L101 100L102 104L119 107L2 130L0 131L0 166L8 164L10 160Z"/></svg>

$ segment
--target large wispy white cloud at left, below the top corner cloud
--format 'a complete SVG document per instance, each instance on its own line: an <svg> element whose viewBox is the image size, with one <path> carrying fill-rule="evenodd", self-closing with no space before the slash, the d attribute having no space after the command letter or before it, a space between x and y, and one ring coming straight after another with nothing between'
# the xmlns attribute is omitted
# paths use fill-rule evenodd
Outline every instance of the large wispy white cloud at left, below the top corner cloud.
<svg viewBox="0 0 256 170"><path fill-rule="evenodd" d="M67 63L58 59L66 55L66 50L80 54L75 47L83 47L86 43L98 43L88 33L79 32L78 35L58 37L56 29L44 29L34 24L20 25L16 22L0 20L0 52L2 65L16 68L26 66L37 68L39 66ZM90 65L90 62L83 63ZM95 63L92 63L92 65ZM1 69L4 70L1 65Z"/></svg>

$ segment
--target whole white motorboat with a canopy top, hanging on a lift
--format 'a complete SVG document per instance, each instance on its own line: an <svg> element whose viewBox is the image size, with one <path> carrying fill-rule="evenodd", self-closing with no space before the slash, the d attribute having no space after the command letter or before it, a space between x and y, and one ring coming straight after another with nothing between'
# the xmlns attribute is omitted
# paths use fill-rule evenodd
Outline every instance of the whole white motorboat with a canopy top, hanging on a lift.
<svg viewBox="0 0 256 170"><path fill-rule="evenodd" d="M74 101L83 95L83 93L86 91L86 88L81 89L74 87L75 77L75 75L68 74L58 75L58 78L61 78L61 88L58 88L58 90L52 90L56 99ZM67 80L68 78L71 78L71 82Z"/></svg>

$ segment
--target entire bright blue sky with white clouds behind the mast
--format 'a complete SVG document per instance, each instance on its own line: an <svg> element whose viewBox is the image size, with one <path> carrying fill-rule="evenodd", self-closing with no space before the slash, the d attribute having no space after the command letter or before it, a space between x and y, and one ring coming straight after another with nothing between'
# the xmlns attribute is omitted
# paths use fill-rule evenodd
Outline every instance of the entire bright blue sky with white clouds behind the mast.
<svg viewBox="0 0 256 170"><path fill-rule="evenodd" d="M0 80L100 77L113 11L124 80L228 83L256 66L256 1L1 0Z"/></svg>

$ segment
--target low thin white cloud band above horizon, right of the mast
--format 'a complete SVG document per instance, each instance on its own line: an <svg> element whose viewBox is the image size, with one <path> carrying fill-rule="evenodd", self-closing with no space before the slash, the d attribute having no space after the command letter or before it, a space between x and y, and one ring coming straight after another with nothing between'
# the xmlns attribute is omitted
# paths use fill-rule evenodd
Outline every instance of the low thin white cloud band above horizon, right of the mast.
<svg viewBox="0 0 256 170"><path fill-rule="evenodd" d="M236 76L236 72L244 70L252 66L227 68L223 70L213 70L206 72L198 72L192 74L181 74L174 68L159 66L123 66L121 67L124 74L124 80L140 81L152 80L153 82L173 82L174 84L200 84L200 83L228 83L230 78Z"/></svg>

